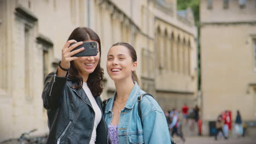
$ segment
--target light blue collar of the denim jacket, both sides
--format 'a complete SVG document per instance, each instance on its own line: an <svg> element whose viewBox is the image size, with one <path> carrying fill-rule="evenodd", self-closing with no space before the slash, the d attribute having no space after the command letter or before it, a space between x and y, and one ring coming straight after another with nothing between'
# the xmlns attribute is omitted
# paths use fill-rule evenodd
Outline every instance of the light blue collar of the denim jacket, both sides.
<svg viewBox="0 0 256 144"><path fill-rule="evenodd" d="M129 95L129 98L128 100L126 101L126 104L125 104L125 108L126 109L132 109L138 96L139 96L139 91L140 91L140 87L138 86L138 83L135 82L135 85L133 86L132 88L132 91ZM106 109L105 112L109 112L109 111L112 111L113 109L113 103L114 103L114 100L115 100L115 97L117 96L117 92L114 93L114 96L108 101L108 109Z"/></svg>

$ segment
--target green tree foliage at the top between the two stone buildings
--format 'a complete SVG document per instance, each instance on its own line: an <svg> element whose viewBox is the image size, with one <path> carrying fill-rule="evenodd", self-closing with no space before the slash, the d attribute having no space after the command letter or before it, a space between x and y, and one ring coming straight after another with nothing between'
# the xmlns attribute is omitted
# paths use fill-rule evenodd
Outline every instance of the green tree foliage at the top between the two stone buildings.
<svg viewBox="0 0 256 144"><path fill-rule="evenodd" d="M194 13L195 25L199 26L199 4L200 0L177 0L177 9L185 10L191 8Z"/></svg>

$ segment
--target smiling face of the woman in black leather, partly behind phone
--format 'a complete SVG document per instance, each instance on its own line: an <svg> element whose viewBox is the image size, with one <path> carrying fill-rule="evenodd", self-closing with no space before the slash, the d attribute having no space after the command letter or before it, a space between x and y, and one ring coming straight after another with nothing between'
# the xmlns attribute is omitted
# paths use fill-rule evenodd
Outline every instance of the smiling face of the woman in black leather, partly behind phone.
<svg viewBox="0 0 256 144"><path fill-rule="evenodd" d="M84 42L90 42L95 40L86 40ZM97 43L97 41L95 41ZM97 43L97 45L99 45ZM98 53L96 56L90 57L79 57L78 59L74 60L74 66L77 68L79 75L89 75L94 72L95 68L97 67L98 61L100 60L100 50L98 49Z"/></svg>

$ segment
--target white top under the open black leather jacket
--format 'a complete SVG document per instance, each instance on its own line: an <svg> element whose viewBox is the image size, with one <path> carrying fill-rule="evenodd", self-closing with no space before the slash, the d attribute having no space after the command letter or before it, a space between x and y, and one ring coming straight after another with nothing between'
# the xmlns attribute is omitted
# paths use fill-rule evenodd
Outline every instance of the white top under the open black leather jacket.
<svg viewBox="0 0 256 144"><path fill-rule="evenodd" d="M98 126L98 123L100 123L101 117L102 117L101 109L100 109L100 107L98 107L97 102L96 102L94 96L92 96L91 90L89 89L86 82L83 83L83 89L84 89L84 92L86 93L87 97L89 98L92 108L94 109L94 112L95 112L94 129L92 130L91 140L90 140L90 144L95 144L96 128Z"/></svg>

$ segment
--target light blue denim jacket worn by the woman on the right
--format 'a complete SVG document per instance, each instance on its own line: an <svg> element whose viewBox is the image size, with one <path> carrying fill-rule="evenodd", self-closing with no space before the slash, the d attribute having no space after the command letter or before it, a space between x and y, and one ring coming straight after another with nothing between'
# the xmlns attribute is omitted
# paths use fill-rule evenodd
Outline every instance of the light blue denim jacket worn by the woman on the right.
<svg viewBox="0 0 256 144"><path fill-rule="evenodd" d="M135 82L129 99L120 113L118 143L171 143L164 112L154 98L148 95L143 97L141 100L142 121L139 118L137 97L143 93L145 92ZM116 95L115 93L106 105L104 117L107 126L113 118L112 108Z"/></svg>

